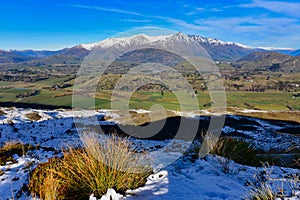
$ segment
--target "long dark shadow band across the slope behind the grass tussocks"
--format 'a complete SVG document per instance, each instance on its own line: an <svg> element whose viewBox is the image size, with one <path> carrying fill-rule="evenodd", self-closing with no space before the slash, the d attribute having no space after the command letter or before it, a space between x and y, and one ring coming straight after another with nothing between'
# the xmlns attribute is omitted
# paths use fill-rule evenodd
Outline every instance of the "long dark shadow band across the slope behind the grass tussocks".
<svg viewBox="0 0 300 200"><path fill-rule="evenodd" d="M223 116L213 116L216 120L223 120ZM193 140L200 138L205 133L211 121L211 116L199 116L197 118L186 118L180 116L169 117L166 120L159 120L151 124L145 123L140 126L133 125L84 125L85 128L95 130L97 132L115 133L119 135L130 135L136 138L146 138L151 140L177 139ZM162 126L163 124L163 126ZM182 125L183 124L183 125ZM146 127L149 126L147 129ZM151 129L153 127L153 129ZM161 127L159 131L153 135L156 127ZM258 118L226 115L222 135L236 136L244 138L257 139L260 133L265 134L291 134L300 135L300 124L297 122L262 120ZM214 130L214 129L212 129ZM147 132L148 131L148 132ZM150 137L146 137L149 136Z"/></svg>

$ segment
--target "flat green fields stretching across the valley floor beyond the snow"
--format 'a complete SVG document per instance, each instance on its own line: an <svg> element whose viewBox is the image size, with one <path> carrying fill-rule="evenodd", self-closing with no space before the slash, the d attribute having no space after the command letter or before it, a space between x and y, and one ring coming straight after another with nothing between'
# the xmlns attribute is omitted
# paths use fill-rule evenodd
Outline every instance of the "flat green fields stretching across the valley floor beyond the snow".
<svg viewBox="0 0 300 200"><path fill-rule="evenodd" d="M226 72L224 72L226 74ZM229 73L229 72L228 72ZM230 71L232 73L232 71ZM213 100L210 98L210 94L205 90L198 88L197 97L191 98L188 92L173 93L165 90L162 96L161 88L154 88L148 90L140 90L134 92L132 95L126 92L117 92L116 96L112 98L111 89L101 88L114 88L120 74L109 74L101 77L99 81L97 78L82 79L78 85L76 85L74 96L76 100L76 106L82 108L102 108L110 109L111 102L114 105L126 105L132 109L151 109L153 105L159 104L168 110L201 110L210 109L211 105L214 105ZM26 103L26 104L40 104L40 105L52 105L56 107L72 107L72 96L75 75L52 75L51 78L36 81L36 82L8 82L0 81L0 103L1 102L13 102L13 103ZM84 78L84 77L83 77ZM198 77L199 78L199 77ZM196 76L189 75L188 80L194 88L199 85L203 85L203 81L198 80ZM224 81L226 86L226 105L230 108L246 108L255 110L300 110L300 97L293 97L293 94L299 93L300 88L293 86L292 83L297 83L299 74L291 75L278 75L273 74L269 82L266 80L266 75L257 74L252 75L252 82L246 78L240 80L226 80ZM132 84L135 84L135 80L139 80L141 77L133 77ZM88 81L86 81L88 80ZM98 85L98 90L95 94L89 92L83 88L89 86L89 83L99 81L101 85ZM251 84L260 85L272 85L274 83L285 83L285 89L282 91L267 89L264 92L253 91L237 91L236 85L243 85L244 88L250 88ZM97 82L96 82L97 83ZM63 85L67 86L63 87ZM295 85L295 84L294 84ZM59 86L58 88L55 88ZM266 87L267 88L267 87ZM272 88L272 87L270 87ZM20 94L24 94L30 91L39 91L35 96L28 96L24 98L18 98ZM176 96L176 95L177 96ZM95 99L93 98L95 97ZM129 100L129 102L126 102ZM195 105L195 101L198 100L198 106ZM194 103L193 103L194 102ZM216 105L216 104L215 104Z"/></svg>

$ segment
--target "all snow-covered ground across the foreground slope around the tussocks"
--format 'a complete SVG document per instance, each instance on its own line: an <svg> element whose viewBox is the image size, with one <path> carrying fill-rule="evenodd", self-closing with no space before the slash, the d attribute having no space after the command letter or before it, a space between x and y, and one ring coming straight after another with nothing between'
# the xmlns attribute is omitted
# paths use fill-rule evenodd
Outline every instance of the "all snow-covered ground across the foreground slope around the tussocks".
<svg viewBox="0 0 300 200"><path fill-rule="evenodd" d="M80 145L80 138L76 132L75 122L83 125L99 124L114 125L118 115L110 110L34 110L1 108L4 115L0 116L0 145L7 142L22 142L39 146L26 155L18 157L17 163L7 163L0 166L4 172L0 176L0 200L2 199L30 199L22 192L22 187L28 183L28 174L38 163L47 161L55 155L61 155L65 145ZM42 118L31 121L25 115L36 112ZM138 113L146 111L139 110ZM183 114L197 118L194 113ZM104 121L104 116L110 121ZM240 116L230 116L232 122L241 120ZM246 119L246 118L245 118ZM244 120L244 119L243 119ZM291 146L300 145L300 138L292 134L277 134L282 128L294 127L295 124L273 123L266 120L247 118L251 127L232 126L230 123L223 128L224 134L235 137L245 137L247 140L264 149L284 150ZM298 125L299 126L299 125ZM240 134L240 135L239 135ZM133 139L137 147L149 151L169 144L170 140L151 141ZM175 141L183 148L186 141ZM171 148L164 153L165 160L180 157L182 152ZM181 156L172 164L158 168L154 166L155 174L148 177L144 187L128 191L124 199L243 199L258 182L266 181L274 191L282 190L289 195L299 191L300 170L265 167L255 168L239 165L225 158L208 155L205 159ZM293 191L294 190L294 191ZM300 199L298 197L294 199Z"/></svg>

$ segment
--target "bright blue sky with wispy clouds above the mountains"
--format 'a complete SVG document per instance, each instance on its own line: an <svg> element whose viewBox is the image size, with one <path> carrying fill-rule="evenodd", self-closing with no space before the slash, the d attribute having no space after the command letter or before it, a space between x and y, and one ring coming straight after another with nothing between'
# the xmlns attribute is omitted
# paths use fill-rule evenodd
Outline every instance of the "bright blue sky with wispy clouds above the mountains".
<svg viewBox="0 0 300 200"><path fill-rule="evenodd" d="M0 49L61 49L143 26L300 48L298 0L0 0L0 19Z"/></svg>

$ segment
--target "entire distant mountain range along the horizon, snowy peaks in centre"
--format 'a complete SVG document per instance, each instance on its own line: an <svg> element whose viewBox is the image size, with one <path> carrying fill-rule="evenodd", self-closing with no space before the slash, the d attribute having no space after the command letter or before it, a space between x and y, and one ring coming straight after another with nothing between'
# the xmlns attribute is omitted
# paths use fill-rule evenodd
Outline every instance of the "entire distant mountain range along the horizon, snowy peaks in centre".
<svg viewBox="0 0 300 200"><path fill-rule="evenodd" d="M163 45L172 45L174 42L187 43L193 41L199 43L211 56L214 61L234 62L236 67L256 67L261 64L272 67L275 64L284 62L298 66L299 50L276 49L276 48L256 48L248 47L235 42L224 42L221 40L201 37L198 35L185 35L176 33L165 36L149 36L144 34L133 35L122 38L109 38L100 42L91 44L80 44L71 48L65 48L58 51L34 51L34 50L0 50L0 65L6 66L49 66L80 64L86 55L94 48L128 48L134 45L143 45L147 43L157 43ZM269 56L268 56L269 55ZM263 60L263 61L259 61ZM252 63L252 64L245 64ZM296 63L296 65L295 65ZM263 66L265 66L263 65ZM273 66L273 67L274 67ZM275 67L276 68L276 67ZM297 68L297 67L296 67Z"/></svg>

